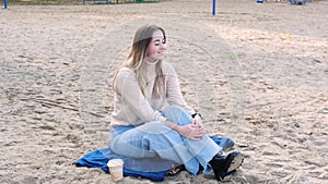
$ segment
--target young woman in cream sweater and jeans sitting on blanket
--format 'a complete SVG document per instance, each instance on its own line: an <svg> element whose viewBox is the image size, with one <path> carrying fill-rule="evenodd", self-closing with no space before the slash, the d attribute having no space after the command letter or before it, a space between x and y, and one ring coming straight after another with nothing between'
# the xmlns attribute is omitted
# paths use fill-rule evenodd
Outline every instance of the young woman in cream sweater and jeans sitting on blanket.
<svg viewBox="0 0 328 184"><path fill-rule="evenodd" d="M137 30L113 81L110 149L128 158L184 164L194 175L201 169L221 181L244 157L237 151L222 156L222 148L204 134L201 115L186 103L174 68L163 61L165 51L163 28L145 25Z"/></svg>

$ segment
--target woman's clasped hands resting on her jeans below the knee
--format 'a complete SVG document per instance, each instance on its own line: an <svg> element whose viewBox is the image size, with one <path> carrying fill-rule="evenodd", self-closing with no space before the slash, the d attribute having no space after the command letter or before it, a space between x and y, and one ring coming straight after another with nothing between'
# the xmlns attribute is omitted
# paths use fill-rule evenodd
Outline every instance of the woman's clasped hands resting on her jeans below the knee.
<svg viewBox="0 0 328 184"><path fill-rule="evenodd" d="M195 123L187 124L184 126L175 127L176 132L178 132L181 136L185 136L189 139L198 140L203 136L203 127L197 125Z"/></svg>

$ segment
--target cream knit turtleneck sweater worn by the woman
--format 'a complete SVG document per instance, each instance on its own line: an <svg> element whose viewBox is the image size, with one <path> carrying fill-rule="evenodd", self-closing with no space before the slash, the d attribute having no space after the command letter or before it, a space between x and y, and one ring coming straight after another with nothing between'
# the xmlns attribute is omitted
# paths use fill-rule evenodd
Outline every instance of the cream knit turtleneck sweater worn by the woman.
<svg viewBox="0 0 328 184"><path fill-rule="evenodd" d="M117 74L117 83L114 96L114 111L112 113L112 126L117 125L140 125L150 121L165 121L161 111L166 105L176 105L186 109L190 114L195 110L190 108L180 91L178 77L174 68L166 63L162 63L163 74L165 78L164 97L154 99L152 89L155 79L155 63L148 62L149 85L144 96L138 84L136 73L122 68Z"/></svg>

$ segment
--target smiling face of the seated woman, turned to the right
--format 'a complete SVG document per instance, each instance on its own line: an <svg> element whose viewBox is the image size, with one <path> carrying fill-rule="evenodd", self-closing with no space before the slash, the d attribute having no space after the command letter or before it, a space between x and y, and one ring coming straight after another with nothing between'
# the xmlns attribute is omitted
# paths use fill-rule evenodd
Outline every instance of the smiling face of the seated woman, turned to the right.
<svg viewBox="0 0 328 184"><path fill-rule="evenodd" d="M147 49L147 57L150 61L157 61L164 58L166 51L166 39L161 30L155 30Z"/></svg>

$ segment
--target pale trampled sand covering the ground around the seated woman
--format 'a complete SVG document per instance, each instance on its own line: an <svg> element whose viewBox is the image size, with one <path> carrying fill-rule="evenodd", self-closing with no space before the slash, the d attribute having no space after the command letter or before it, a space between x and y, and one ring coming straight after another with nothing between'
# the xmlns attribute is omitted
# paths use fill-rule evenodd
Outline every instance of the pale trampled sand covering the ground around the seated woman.
<svg viewBox="0 0 328 184"><path fill-rule="evenodd" d="M328 181L328 1L251 0L0 9L0 183L112 183L77 168L109 144L110 78L137 28L167 34L166 61L209 135L246 159L223 183ZM125 177L120 183L159 183ZM186 171L160 183L218 183Z"/></svg>

